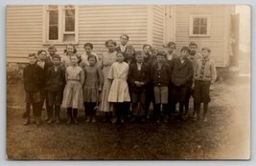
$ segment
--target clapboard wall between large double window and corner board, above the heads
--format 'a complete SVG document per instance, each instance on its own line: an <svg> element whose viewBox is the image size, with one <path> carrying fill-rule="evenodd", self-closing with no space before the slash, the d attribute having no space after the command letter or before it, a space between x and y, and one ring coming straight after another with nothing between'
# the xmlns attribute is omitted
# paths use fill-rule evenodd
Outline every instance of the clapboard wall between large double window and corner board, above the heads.
<svg viewBox="0 0 256 166"><path fill-rule="evenodd" d="M105 41L113 39L120 43L120 35L127 33L128 44L141 50L147 39L147 6L109 5L79 7L78 52L83 52L83 44L90 42L94 52L106 52Z"/></svg>

